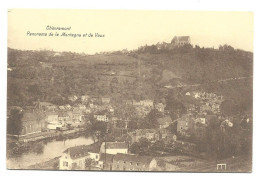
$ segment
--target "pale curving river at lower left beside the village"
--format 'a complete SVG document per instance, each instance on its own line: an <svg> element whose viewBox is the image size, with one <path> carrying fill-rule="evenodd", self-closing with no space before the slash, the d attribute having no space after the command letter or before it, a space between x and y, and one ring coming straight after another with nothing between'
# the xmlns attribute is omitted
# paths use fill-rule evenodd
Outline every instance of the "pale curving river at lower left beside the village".
<svg viewBox="0 0 260 179"><path fill-rule="evenodd" d="M69 147L77 145L89 145L92 143L92 138L84 136L75 139L66 139L64 141L40 141L33 145L32 150L7 158L7 168L23 169L30 165L45 162L58 157Z"/></svg>

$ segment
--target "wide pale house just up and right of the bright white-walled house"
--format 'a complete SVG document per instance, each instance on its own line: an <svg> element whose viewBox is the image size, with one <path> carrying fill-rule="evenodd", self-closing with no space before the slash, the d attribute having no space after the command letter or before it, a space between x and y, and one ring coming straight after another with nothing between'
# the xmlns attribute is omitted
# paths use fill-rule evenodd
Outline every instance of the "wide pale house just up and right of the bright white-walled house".
<svg viewBox="0 0 260 179"><path fill-rule="evenodd" d="M129 135L132 139L132 143L138 142L141 138L146 138L149 141L156 140L156 133L155 129L137 129L133 132L130 132Z"/></svg>

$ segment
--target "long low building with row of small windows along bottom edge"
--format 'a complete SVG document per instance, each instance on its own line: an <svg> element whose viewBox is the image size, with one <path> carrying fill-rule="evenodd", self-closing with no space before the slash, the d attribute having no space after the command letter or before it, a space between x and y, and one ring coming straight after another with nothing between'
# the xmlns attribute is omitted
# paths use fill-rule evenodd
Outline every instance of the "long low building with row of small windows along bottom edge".
<svg viewBox="0 0 260 179"><path fill-rule="evenodd" d="M157 161L150 156L116 154L113 158L113 171L153 171Z"/></svg>

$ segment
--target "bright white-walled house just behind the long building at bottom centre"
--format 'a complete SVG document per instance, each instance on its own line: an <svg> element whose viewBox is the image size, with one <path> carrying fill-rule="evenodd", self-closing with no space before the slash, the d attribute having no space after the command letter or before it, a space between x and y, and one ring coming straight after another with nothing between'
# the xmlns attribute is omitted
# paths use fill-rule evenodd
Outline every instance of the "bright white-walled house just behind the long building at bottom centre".
<svg viewBox="0 0 260 179"><path fill-rule="evenodd" d="M100 147L100 153L117 154L128 153L128 143L125 142L103 142Z"/></svg>

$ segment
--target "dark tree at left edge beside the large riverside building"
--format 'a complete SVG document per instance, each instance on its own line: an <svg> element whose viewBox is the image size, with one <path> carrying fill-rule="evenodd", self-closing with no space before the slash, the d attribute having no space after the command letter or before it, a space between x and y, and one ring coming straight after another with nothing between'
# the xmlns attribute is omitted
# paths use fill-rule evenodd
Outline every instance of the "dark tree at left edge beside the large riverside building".
<svg viewBox="0 0 260 179"><path fill-rule="evenodd" d="M13 108L7 117L7 133L19 135L22 131L23 110L21 108Z"/></svg>

